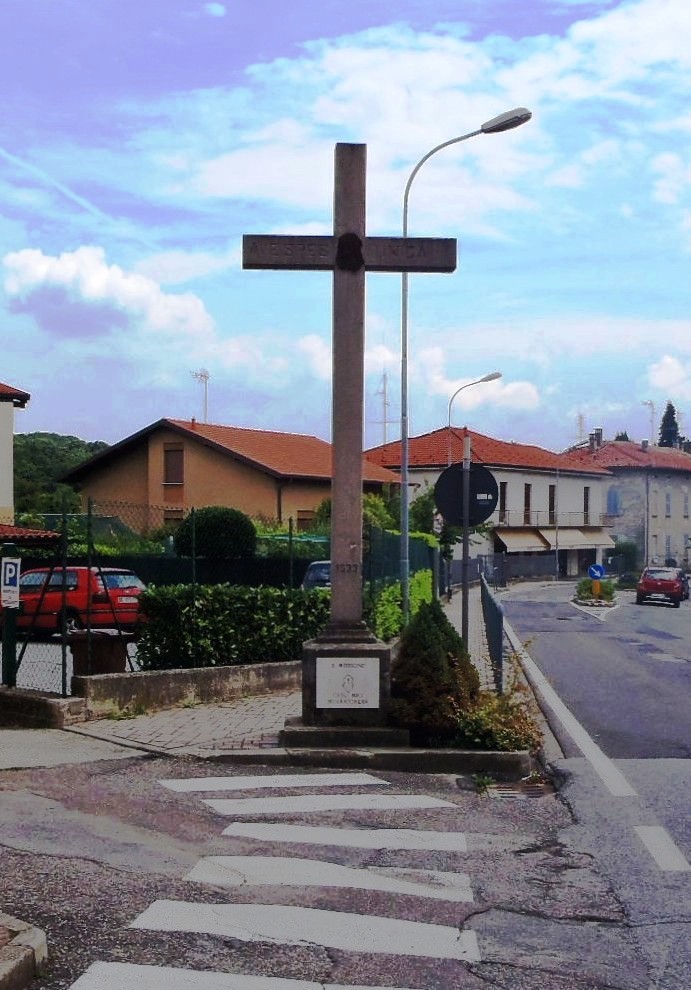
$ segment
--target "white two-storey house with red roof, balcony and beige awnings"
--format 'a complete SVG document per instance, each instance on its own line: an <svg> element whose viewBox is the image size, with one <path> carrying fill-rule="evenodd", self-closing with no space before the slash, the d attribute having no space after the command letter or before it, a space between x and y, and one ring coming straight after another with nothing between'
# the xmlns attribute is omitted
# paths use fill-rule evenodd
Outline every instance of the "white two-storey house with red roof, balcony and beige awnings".
<svg viewBox="0 0 691 990"><path fill-rule="evenodd" d="M488 520L487 537L474 537L475 553L506 554L510 573L564 576L587 573L602 563L614 542L606 531L606 468L582 463L532 444L510 443L467 428L444 427L409 440L409 479L416 491L434 487L450 464L463 459L464 437L470 437L471 463L493 475L498 502ZM367 451L368 460L400 469L400 441Z"/></svg>

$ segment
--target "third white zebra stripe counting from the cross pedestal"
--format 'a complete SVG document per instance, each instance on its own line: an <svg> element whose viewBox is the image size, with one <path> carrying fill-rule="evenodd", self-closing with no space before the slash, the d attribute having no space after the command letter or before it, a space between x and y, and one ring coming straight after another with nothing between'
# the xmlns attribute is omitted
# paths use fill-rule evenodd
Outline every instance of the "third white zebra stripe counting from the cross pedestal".
<svg viewBox="0 0 691 990"><path fill-rule="evenodd" d="M283 825L280 822L233 822L223 835L265 842L304 842L316 846L354 849L422 849L467 852L465 832L433 832L416 828L330 828L319 825Z"/></svg>

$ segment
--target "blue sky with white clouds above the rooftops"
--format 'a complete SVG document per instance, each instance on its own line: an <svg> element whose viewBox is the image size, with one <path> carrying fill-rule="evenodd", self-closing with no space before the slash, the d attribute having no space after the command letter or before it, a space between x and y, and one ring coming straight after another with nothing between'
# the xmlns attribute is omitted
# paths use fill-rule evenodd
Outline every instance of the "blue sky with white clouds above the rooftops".
<svg viewBox="0 0 691 990"><path fill-rule="evenodd" d="M328 272L243 234L453 237L408 279L409 433L691 435L688 0L0 0L0 381L18 432L331 435ZM365 446L400 436L401 277L367 276ZM462 386L501 372L501 378ZM208 376L208 377L207 377Z"/></svg>

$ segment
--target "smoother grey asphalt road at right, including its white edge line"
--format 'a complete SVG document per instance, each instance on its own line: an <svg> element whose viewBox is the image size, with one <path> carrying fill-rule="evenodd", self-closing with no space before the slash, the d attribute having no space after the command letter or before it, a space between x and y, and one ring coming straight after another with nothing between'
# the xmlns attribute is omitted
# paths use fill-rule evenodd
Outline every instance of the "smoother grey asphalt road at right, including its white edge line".
<svg viewBox="0 0 691 990"><path fill-rule="evenodd" d="M691 985L691 605L578 609L573 584L516 586L505 616L558 695L562 798L640 933L651 990ZM575 717L576 723L569 720Z"/></svg>

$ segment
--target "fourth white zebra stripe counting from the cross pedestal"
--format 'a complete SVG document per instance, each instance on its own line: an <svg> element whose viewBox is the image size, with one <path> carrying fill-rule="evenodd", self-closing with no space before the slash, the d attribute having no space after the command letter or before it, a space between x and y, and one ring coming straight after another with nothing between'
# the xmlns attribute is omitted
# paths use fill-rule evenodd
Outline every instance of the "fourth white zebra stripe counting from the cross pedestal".
<svg viewBox="0 0 691 990"><path fill-rule="evenodd" d="M408 894L435 900L472 901L470 878L465 873L392 867L340 866L314 859L278 856L208 856L200 860L185 880L218 887L289 886L348 887Z"/></svg>

